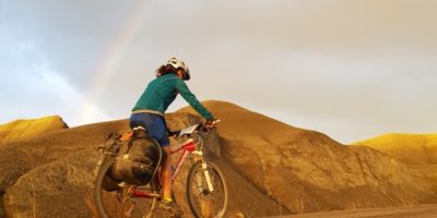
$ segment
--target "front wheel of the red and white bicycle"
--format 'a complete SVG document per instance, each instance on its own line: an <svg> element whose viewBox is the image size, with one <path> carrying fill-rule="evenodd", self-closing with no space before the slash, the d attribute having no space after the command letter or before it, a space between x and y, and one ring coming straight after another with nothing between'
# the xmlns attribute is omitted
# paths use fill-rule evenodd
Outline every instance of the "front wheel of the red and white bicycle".
<svg viewBox="0 0 437 218"><path fill-rule="evenodd" d="M192 214L198 218L224 217L227 207L227 184L220 168L213 162L208 162L214 192L208 190L201 162L190 169L187 180L188 203Z"/></svg>

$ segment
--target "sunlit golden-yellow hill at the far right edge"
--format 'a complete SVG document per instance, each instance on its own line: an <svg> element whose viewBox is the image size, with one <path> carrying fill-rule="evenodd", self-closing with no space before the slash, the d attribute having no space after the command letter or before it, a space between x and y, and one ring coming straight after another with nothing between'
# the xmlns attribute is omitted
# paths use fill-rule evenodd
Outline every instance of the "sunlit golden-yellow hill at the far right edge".
<svg viewBox="0 0 437 218"><path fill-rule="evenodd" d="M437 134L385 134L354 143L381 150L409 166L437 165Z"/></svg>

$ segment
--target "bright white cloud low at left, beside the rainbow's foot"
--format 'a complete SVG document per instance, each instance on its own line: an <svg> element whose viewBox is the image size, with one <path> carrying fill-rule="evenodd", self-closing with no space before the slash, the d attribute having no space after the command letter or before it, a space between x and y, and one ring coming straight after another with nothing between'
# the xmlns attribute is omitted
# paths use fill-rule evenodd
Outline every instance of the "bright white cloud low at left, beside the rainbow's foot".
<svg viewBox="0 0 437 218"><path fill-rule="evenodd" d="M10 61L15 65L0 65L0 71L7 72L0 82L0 123L49 114L60 114L69 125L108 119L50 69L33 43L19 41L12 47L16 53L10 56Z"/></svg>

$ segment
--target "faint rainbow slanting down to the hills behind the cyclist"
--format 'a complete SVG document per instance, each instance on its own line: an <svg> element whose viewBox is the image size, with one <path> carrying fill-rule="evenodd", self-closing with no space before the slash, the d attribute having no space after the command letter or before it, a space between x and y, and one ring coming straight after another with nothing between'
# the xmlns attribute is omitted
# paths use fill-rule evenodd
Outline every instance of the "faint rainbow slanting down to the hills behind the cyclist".
<svg viewBox="0 0 437 218"><path fill-rule="evenodd" d="M96 101L101 98L104 90L107 88L109 80L113 78L116 73L116 69L120 64L120 60L125 56L127 49L130 48L132 40L140 31L140 25L144 21L146 15L146 1L141 1L134 5L134 11L131 16L127 20L126 27L120 29L120 35L114 40L113 46L105 52L106 56L102 59L103 61L97 64L93 76L90 78L87 93L84 96L87 102L82 108L80 119L83 122L95 121L93 120L94 112L103 112L95 107ZM96 111L98 110L98 111Z"/></svg>

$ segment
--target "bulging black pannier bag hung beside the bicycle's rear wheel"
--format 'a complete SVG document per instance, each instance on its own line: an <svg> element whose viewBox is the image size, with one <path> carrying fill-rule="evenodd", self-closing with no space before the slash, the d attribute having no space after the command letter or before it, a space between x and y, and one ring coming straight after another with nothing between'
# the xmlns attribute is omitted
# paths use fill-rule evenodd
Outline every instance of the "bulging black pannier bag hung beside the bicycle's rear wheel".
<svg viewBox="0 0 437 218"><path fill-rule="evenodd" d="M123 142L113 166L113 175L132 185L144 185L156 173L163 159L160 144L147 136L146 131L135 130Z"/></svg>

